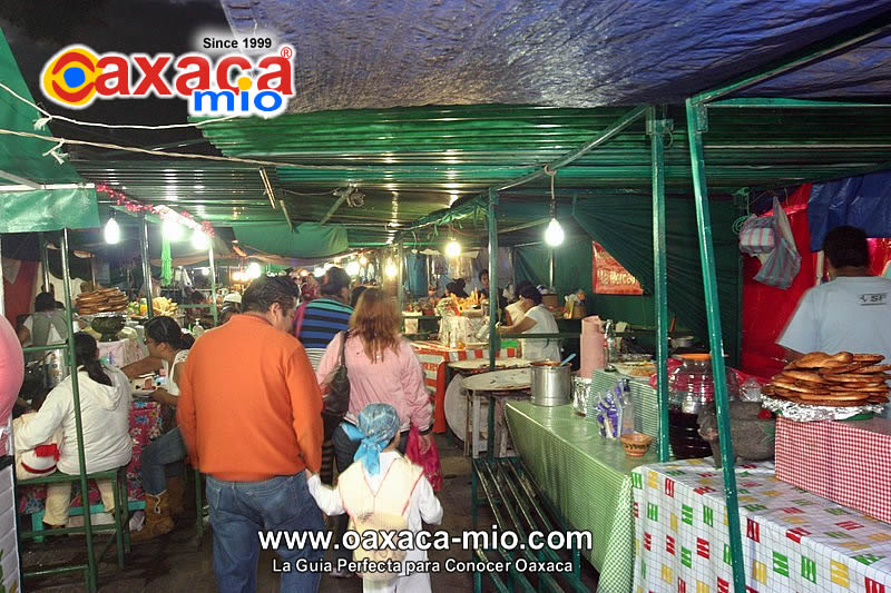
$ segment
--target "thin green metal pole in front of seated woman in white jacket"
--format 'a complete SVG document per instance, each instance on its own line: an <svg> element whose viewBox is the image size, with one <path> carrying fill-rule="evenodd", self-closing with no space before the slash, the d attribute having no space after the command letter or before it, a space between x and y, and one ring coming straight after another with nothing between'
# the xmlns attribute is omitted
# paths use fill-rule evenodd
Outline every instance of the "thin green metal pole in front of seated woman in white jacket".
<svg viewBox="0 0 891 593"><path fill-rule="evenodd" d="M87 590L97 590L96 556L92 553L92 521L87 488L87 458L84 453L84 424L80 419L80 389L77 380L77 355L75 353L75 320L71 312L71 273L68 268L68 229L62 229L61 241L62 285L65 287L65 315L68 323L68 368L71 373L71 398L75 403L75 431L77 433L77 461L80 470L80 498L84 504L84 528L87 534Z"/></svg>

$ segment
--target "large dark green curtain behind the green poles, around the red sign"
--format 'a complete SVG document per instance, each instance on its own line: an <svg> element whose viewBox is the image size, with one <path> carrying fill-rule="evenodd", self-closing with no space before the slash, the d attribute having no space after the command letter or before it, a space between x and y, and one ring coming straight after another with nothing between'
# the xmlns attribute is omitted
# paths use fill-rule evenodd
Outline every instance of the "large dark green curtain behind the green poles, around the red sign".
<svg viewBox="0 0 891 593"><path fill-rule="evenodd" d="M733 223L740 211L728 200L709 202L715 268L721 298L724 349L731 362L740 349L740 249ZM678 322L707 342L699 240L693 199L666 200L668 308ZM579 200L575 217L594 240L630 271L648 293L654 289L653 202L628 196Z"/></svg>

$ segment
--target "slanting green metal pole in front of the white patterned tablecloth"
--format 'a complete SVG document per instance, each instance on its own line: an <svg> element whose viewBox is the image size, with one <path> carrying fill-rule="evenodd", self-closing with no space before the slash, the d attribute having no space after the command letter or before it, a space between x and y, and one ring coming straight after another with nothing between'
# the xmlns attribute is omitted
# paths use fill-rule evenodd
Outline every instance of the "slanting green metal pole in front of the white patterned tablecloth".
<svg viewBox="0 0 891 593"><path fill-rule="evenodd" d="M715 278L715 253L712 244L712 217L708 209L708 188L705 182L705 155L703 132L707 129L705 106L686 101L687 136L693 170L693 189L696 197L696 224L699 231L699 259L703 266L705 313L708 318L708 342L712 346L712 374L715 380L715 407L721 437L721 462L724 471L724 500L727 505L727 530L730 531L733 586L736 593L745 592L745 564L743 563L742 532L740 530L740 505L736 500L736 474L734 473L733 444L731 443L731 417L727 403L726 369L724 368L724 344L721 337L721 307Z"/></svg>

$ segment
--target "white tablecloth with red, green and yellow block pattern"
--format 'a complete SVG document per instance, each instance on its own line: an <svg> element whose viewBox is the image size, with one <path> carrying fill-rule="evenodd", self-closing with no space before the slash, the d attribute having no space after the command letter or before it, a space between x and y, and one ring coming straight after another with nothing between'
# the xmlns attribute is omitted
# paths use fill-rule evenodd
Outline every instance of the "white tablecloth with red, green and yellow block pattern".
<svg viewBox="0 0 891 593"><path fill-rule="evenodd" d="M711 459L638 467L636 591L732 590L724 481ZM891 592L891 525L737 466L746 593Z"/></svg>

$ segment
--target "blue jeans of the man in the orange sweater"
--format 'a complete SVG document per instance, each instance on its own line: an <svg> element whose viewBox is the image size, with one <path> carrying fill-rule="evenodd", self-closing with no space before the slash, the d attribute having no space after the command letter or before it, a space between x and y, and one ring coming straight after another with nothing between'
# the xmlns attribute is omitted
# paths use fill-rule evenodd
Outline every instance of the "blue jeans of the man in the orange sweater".
<svg viewBox="0 0 891 593"><path fill-rule="evenodd" d="M322 532L322 512L306 487L306 475L263 482L226 482L207 476L207 503L214 527L214 574L221 593L254 593L257 587L260 531ZM321 560L324 550L276 550L292 567L297 559ZM320 573L283 572L280 591L319 590Z"/></svg>

